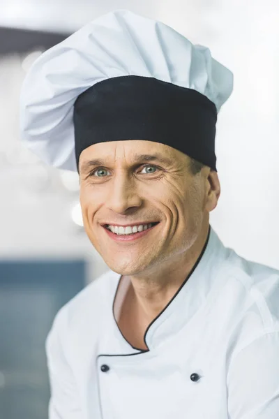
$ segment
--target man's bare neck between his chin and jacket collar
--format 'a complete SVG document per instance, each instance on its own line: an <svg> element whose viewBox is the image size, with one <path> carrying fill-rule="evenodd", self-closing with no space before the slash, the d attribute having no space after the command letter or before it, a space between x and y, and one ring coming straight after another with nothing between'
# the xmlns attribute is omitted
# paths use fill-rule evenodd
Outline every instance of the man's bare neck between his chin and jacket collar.
<svg viewBox="0 0 279 419"><path fill-rule="evenodd" d="M208 233L209 226L197 237L186 254L179 255L175 261L172 260L172 264L164 267L164 270L156 269L156 272L144 276L129 277L130 301L133 301L134 309L146 321L152 321L172 300L197 263Z"/></svg>

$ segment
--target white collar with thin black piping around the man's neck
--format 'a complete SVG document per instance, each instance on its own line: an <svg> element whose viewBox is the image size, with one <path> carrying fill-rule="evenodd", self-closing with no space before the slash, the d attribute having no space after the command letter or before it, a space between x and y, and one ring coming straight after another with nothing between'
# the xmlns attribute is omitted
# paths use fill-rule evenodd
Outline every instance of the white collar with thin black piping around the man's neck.
<svg viewBox="0 0 279 419"><path fill-rule="evenodd" d="M172 300L151 322L145 332L144 340L149 351L163 344L187 323L190 325L199 311L218 293L223 279L219 267L220 263L223 263L227 250L216 232L209 226L209 235L204 249L193 269ZM119 284L121 275L116 274L116 277ZM118 286L116 290L117 288ZM118 329L115 318L114 325ZM123 339L125 340L124 337Z"/></svg>

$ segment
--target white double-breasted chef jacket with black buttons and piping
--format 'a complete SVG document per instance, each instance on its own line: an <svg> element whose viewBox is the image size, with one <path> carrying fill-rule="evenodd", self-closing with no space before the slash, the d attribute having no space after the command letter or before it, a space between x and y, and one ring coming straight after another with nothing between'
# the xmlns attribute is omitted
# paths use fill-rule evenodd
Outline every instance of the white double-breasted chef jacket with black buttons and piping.
<svg viewBox="0 0 279 419"><path fill-rule="evenodd" d="M212 227L204 248L149 325L149 351L121 335L112 270L59 310L46 340L50 419L279 418L279 271Z"/></svg>

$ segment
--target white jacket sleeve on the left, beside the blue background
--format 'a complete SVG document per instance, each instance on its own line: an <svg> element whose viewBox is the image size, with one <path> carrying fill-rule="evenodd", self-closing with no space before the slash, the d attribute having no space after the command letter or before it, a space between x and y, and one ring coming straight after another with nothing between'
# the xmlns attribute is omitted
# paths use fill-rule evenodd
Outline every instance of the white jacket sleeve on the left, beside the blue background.
<svg viewBox="0 0 279 419"><path fill-rule="evenodd" d="M63 348L63 344L66 347L66 327L66 307L62 307L45 341L51 393L49 419L82 419L77 383Z"/></svg>

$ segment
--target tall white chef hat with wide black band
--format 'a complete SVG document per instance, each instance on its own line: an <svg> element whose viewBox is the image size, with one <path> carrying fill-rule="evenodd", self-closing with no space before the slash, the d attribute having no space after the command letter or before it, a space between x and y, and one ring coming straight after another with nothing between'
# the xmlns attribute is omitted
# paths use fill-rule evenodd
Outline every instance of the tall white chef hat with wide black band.
<svg viewBox="0 0 279 419"><path fill-rule="evenodd" d="M232 86L208 48L116 10L34 61L20 94L20 135L66 170L79 171L86 147L116 140L160 142L216 170L217 114Z"/></svg>

